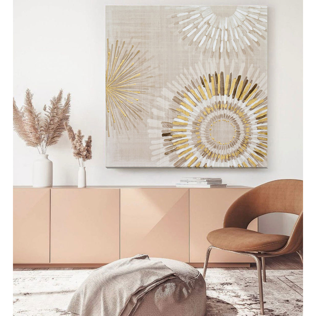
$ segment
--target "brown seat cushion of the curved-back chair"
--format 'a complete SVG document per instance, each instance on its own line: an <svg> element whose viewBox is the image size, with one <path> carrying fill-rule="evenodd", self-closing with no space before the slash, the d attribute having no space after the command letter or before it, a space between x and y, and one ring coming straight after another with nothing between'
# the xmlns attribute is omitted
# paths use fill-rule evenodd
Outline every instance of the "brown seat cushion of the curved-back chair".
<svg viewBox="0 0 316 316"><path fill-rule="evenodd" d="M272 251L285 246L289 236L262 234L244 228L220 228L207 235L212 246L233 251Z"/></svg>

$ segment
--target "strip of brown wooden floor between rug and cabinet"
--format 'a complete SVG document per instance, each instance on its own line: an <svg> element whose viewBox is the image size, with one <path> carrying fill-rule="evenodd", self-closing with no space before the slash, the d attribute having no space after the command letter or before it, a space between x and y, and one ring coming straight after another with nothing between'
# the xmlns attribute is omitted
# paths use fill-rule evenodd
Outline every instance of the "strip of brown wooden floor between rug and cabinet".
<svg viewBox="0 0 316 316"><path fill-rule="evenodd" d="M296 253L265 259L266 270L302 270L303 265L300 257ZM82 270L95 268L13 268L13 271L27 270ZM212 269L212 268L209 268ZM256 269L256 264L251 264L250 268L222 268L225 270L252 270Z"/></svg>

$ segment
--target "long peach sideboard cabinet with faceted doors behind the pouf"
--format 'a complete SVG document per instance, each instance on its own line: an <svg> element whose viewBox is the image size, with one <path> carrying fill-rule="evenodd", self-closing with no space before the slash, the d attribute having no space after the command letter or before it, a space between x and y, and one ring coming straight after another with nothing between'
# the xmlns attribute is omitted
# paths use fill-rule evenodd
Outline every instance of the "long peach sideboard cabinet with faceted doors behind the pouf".
<svg viewBox="0 0 316 316"><path fill-rule="evenodd" d="M13 188L15 266L101 266L147 253L201 266L206 235L247 187L174 186ZM248 229L258 230L258 219ZM210 265L252 260L213 251Z"/></svg>

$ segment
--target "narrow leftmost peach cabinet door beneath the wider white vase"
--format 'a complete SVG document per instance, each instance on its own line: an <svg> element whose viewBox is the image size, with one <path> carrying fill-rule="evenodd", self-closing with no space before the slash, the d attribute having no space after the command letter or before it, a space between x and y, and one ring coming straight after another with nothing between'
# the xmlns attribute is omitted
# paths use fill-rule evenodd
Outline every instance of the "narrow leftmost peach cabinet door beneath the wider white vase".
<svg viewBox="0 0 316 316"><path fill-rule="evenodd" d="M49 263L49 188L13 189L13 263Z"/></svg>

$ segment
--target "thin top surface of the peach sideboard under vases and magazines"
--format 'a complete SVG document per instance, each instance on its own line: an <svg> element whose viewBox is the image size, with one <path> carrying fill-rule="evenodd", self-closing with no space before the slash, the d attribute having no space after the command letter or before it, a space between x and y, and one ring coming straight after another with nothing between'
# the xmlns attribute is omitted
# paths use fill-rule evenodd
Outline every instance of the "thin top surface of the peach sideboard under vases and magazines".
<svg viewBox="0 0 316 316"><path fill-rule="evenodd" d="M14 189L33 189L31 185L14 185ZM76 185L53 185L52 187L34 188L34 189L125 189L125 188L139 188L139 189L208 189L196 187L179 187L175 185L88 185L86 188L78 188ZM212 189L251 189L250 186L243 185L228 185L225 188Z"/></svg>

